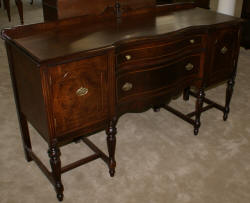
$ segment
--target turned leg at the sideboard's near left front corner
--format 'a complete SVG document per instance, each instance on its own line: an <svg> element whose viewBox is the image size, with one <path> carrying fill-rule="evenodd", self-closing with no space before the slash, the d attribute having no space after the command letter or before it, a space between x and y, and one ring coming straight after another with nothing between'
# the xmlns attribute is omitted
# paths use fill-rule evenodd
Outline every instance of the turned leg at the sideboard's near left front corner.
<svg viewBox="0 0 250 203"><path fill-rule="evenodd" d="M62 201L64 189L61 181L61 160L60 160L61 152L59 147L57 146L56 140L52 141L48 150L48 154L50 157L50 165L52 169L52 176L54 179L54 187L56 190L57 199L59 201Z"/></svg>

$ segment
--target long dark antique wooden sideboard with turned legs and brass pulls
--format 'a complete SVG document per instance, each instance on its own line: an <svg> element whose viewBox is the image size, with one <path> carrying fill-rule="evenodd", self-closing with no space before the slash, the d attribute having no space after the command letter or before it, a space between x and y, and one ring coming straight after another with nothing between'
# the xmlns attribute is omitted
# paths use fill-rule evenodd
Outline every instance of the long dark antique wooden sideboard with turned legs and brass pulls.
<svg viewBox="0 0 250 203"><path fill-rule="evenodd" d="M215 107L227 119L236 76L241 19L194 4L93 1L99 4L92 4L98 5L92 14L1 33L26 159L37 163L59 200L61 174L75 167L101 158L114 176L120 116L162 108L189 122L197 135L203 111ZM225 106L205 97L206 88L221 82L228 84ZM194 112L168 105L180 92L184 100L197 98ZM32 151L27 122L48 143L51 171ZM101 130L108 155L87 138ZM62 167L60 146L77 140L94 154Z"/></svg>

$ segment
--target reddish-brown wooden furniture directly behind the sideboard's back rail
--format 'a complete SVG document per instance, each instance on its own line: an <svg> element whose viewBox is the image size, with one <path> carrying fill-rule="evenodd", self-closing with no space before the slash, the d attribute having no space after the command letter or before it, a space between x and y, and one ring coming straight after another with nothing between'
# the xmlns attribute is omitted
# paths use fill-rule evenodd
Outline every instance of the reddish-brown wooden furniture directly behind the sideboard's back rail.
<svg viewBox="0 0 250 203"><path fill-rule="evenodd" d="M43 0L43 15L44 21L51 21L90 14L100 15L108 10L118 15L119 12L152 7L155 7L155 0L92 0L91 3L89 0Z"/></svg>

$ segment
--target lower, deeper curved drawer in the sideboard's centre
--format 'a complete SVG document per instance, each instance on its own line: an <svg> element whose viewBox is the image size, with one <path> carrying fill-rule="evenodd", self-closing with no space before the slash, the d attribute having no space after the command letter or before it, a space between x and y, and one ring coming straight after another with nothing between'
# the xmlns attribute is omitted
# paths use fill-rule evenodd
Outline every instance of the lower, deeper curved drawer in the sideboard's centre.
<svg viewBox="0 0 250 203"><path fill-rule="evenodd" d="M155 91L166 91L166 88L199 73L200 54L190 55L172 63L153 68L128 71L118 76L116 81L118 102Z"/></svg>

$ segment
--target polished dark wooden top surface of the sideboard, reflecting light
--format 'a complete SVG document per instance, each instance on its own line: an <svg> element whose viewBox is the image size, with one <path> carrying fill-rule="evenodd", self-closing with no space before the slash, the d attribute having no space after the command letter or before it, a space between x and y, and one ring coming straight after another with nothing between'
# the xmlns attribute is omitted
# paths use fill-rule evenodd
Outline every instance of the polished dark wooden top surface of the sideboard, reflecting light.
<svg viewBox="0 0 250 203"><path fill-rule="evenodd" d="M189 27L238 22L241 19L201 8L91 21L79 18L3 30L4 38L22 47L38 62L79 52L112 47L116 43L154 38ZM74 22L75 21L75 22ZM60 25L61 22L67 22ZM65 25L66 24L66 25ZM17 34L18 33L18 34ZM21 34L20 34L21 33Z"/></svg>

